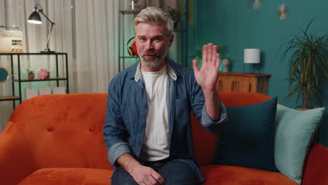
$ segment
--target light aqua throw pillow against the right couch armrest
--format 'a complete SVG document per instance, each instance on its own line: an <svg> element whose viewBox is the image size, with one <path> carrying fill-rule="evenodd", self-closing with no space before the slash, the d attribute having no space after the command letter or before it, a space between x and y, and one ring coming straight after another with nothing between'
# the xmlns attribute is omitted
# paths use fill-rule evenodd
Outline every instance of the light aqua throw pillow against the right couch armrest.
<svg viewBox="0 0 328 185"><path fill-rule="evenodd" d="M310 143L324 108L297 111L278 104L275 116L275 166L301 184Z"/></svg>

